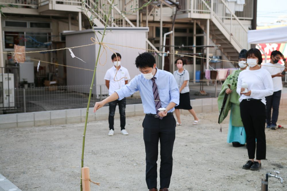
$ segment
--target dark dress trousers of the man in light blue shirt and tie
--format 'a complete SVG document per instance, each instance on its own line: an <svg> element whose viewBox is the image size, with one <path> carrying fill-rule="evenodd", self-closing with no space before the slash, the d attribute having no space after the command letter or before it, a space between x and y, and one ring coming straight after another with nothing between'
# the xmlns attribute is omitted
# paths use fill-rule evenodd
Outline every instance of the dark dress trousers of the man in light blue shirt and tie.
<svg viewBox="0 0 287 191"><path fill-rule="evenodd" d="M143 127L148 189L157 188L158 140L160 140L160 189L168 188L172 174L172 150L176 121L173 115L163 119L146 115Z"/></svg>

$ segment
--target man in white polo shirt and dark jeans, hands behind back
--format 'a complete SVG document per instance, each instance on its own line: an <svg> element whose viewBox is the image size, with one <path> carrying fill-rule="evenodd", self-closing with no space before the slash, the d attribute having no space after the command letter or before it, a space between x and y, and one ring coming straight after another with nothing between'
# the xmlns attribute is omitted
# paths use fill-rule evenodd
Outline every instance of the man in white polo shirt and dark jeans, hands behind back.
<svg viewBox="0 0 287 191"><path fill-rule="evenodd" d="M117 54L117 55L116 55ZM121 66L121 55L116 53L112 55L113 67L108 69L104 79L106 80L106 86L108 88L108 94L111 95L115 92L115 90L120 89L125 84L127 84L128 80L131 79L129 77L129 72L127 68ZM128 135L129 133L125 130L125 107L126 107L126 99L115 100L109 103L109 116L108 123L110 131L108 133L109 136L114 135L114 116L116 111L116 106L119 105L119 113L120 113L120 121L121 121L121 134Z"/></svg>

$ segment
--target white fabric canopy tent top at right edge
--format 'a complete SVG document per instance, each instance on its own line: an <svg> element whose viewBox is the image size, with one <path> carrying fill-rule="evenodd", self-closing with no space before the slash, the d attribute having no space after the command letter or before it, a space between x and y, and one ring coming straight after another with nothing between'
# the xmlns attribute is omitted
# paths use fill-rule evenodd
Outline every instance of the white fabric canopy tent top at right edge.
<svg viewBox="0 0 287 191"><path fill-rule="evenodd" d="M287 43L287 26L247 32L249 44Z"/></svg>

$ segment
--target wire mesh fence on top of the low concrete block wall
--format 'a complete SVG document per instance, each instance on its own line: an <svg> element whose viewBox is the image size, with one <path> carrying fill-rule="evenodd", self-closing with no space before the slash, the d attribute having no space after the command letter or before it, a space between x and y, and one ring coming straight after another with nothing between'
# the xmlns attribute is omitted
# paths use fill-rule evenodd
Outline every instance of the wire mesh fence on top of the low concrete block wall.
<svg viewBox="0 0 287 191"><path fill-rule="evenodd" d="M90 107L108 97L105 85L94 86L97 94L92 94ZM93 89L94 89L93 88ZM215 80L193 80L189 82L190 98L217 97L221 82ZM46 86L34 88L0 88L0 113L25 113L61 109L85 108L88 104L90 85ZM127 98L127 104L139 104L139 92Z"/></svg>

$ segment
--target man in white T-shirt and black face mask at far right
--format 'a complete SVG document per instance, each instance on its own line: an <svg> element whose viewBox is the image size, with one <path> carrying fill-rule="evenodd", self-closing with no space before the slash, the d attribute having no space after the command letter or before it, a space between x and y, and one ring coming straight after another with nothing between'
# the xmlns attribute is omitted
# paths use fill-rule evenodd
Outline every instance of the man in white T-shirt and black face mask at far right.
<svg viewBox="0 0 287 191"><path fill-rule="evenodd" d="M278 63L280 58L284 61L284 66ZM285 69L286 59L284 58L283 54L277 50L272 51L271 53L271 60L269 63L265 63L261 66L267 70L271 76L273 81L274 91L271 96L266 97L266 128L276 129L276 122L278 119L279 114L279 104L281 98L281 90L282 86L282 72L287 71ZM271 118L271 109L272 111L272 118Z"/></svg>

